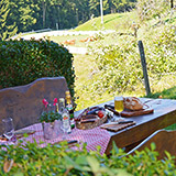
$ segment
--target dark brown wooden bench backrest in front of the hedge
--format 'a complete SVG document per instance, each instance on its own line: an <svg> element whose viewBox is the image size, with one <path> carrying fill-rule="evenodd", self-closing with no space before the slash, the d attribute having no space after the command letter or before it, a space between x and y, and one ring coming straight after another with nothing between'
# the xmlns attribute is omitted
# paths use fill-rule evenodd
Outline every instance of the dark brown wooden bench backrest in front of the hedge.
<svg viewBox="0 0 176 176"><path fill-rule="evenodd" d="M21 129L38 122L37 118L43 110L42 100L52 102L54 98L65 98L68 90L64 77L45 77L35 81L0 90L0 133L2 119L11 117L14 129Z"/></svg>

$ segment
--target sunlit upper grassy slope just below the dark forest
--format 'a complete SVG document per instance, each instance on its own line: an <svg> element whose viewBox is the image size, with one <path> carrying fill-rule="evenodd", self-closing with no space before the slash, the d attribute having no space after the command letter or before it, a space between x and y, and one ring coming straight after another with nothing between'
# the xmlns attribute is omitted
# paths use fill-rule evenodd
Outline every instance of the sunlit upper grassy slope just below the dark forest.
<svg viewBox="0 0 176 176"><path fill-rule="evenodd" d="M133 10L125 13L112 13L103 15L103 24L101 24L101 16L91 19L86 23L77 26L73 31L96 31L96 30L116 30L117 33L133 33L132 25L138 24L138 37L143 38L154 31L161 31L165 25L176 24L176 11L172 11L163 19L152 18L147 21L140 21L138 11Z"/></svg>

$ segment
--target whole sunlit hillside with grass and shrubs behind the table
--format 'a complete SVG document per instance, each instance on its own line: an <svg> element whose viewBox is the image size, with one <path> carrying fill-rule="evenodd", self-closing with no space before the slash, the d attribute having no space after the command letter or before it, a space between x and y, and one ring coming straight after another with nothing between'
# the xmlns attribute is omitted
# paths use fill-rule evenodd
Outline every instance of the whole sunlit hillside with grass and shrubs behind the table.
<svg viewBox="0 0 176 176"><path fill-rule="evenodd" d="M172 98L163 90L174 88L176 84L176 77L173 75L176 72L175 15L173 11L162 19L152 18L143 22L140 22L136 11L105 15L103 29L116 30L116 33L99 35L97 41L87 43L90 51L97 51L97 54L91 52L88 56L75 55L74 57L77 74L76 91L79 97L78 109L112 99L117 94L145 96L138 48L140 40L144 44L154 97L163 95L164 98ZM75 31L102 30L100 21L100 16L92 19L76 28ZM134 23L138 26L136 37L133 35ZM124 64L119 63L120 61ZM125 67L121 69L123 65Z"/></svg>

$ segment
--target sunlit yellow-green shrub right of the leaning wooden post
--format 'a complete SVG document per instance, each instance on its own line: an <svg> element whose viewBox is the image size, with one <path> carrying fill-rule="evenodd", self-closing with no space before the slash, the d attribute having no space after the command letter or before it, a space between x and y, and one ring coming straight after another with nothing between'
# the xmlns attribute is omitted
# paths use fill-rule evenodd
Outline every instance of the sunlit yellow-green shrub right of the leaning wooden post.
<svg viewBox="0 0 176 176"><path fill-rule="evenodd" d="M155 29L153 33L157 33L157 36L146 40L145 52L151 77L160 79L163 75L176 73L176 34L170 25L163 30Z"/></svg>

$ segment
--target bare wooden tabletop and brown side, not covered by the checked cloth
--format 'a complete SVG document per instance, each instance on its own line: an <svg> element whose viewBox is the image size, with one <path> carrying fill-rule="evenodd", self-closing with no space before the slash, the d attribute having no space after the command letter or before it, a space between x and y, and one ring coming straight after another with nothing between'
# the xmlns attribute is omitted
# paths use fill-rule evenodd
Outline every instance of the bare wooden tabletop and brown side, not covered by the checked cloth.
<svg viewBox="0 0 176 176"><path fill-rule="evenodd" d="M113 141L118 147L125 147L128 152L156 130L176 123L176 100L148 98L141 98L141 100L151 106L151 108L154 109L154 113L125 118L127 120L135 121L136 124L119 132L109 132L111 139L106 150L107 155L110 154L112 150ZM113 100L99 106L110 103L113 103ZM76 112L76 114L77 113L80 113L80 111Z"/></svg>

